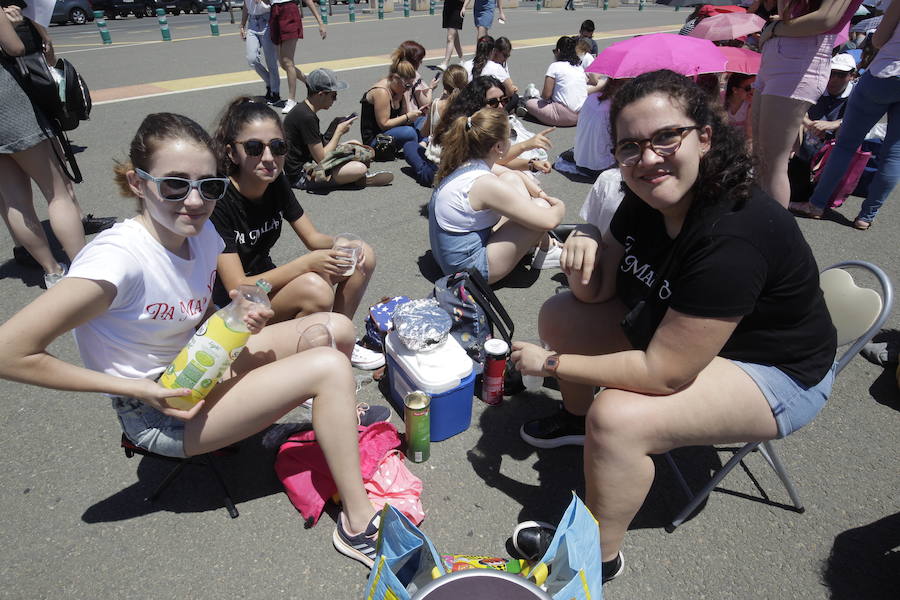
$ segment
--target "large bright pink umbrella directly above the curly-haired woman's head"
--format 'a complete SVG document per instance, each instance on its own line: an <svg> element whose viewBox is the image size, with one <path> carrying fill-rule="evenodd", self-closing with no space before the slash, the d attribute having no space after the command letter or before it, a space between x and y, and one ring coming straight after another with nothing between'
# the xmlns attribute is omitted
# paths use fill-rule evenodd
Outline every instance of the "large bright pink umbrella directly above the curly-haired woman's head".
<svg viewBox="0 0 900 600"><path fill-rule="evenodd" d="M673 33L641 35L602 50L586 71L614 79L637 77L658 69L682 75L721 73L725 55L709 40Z"/></svg>

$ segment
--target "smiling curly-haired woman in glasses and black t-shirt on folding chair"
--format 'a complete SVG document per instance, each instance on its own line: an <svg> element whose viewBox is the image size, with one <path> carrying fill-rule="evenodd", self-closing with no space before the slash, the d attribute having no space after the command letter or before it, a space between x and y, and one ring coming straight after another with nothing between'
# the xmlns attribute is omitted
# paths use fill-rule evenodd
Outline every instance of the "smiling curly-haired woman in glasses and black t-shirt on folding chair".
<svg viewBox="0 0 900 600"><path fill-rule="evenodd" d="M610 122L625 199L602 240L584 228L566 246L571 291L539 317L551 350L515 342L511 357L559 381L564 409L520 433L584 445L604 580L622 570L651 455L803 427L830 393L836 350L812 251L753 185L743 137L706 94L671 71L641 75Z"/></svg>

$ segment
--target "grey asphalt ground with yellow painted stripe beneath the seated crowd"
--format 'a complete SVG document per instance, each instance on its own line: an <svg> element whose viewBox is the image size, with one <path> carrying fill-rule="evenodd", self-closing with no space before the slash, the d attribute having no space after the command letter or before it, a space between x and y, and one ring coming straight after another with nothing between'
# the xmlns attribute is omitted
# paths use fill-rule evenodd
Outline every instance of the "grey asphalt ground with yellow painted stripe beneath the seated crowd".
<svg viewBox="0 0 900 600"><path fill-rule="evenodd" d="M526 6L509 10L508 23L493 30L513 41L511 70L520 87L539 82L551 60L549 42L534 40L574 33L584 18L597 22L598 37L601 30L671 29L684 18L683 12L655 7L640 13L623 8L537 14L532 4ZM350 83L326 120L358 110L359 96L386 70L378 57L397 42L418 39L435 51L430 57L437 57L443 40L439 16L390 16L355 24L337 16L325 41L316 38L307 19L310 36L299 45L298 62L338 65ZM212 38L204 30L205 19L170 17L179 40L170 43L156 41L153 20L118 19L110 22L112 47L99 45L92 24L52 29L57 50L76 63L95 93L138 86L126 99L98 104L92 119L73 132L73 141L84 147L78 159L86 180L77 192L88 212L118 218L134 213L133 202L116 194L111 169L125 156L145 114L177 111L212 127L230 98L262 92L244 63L236 25L229 25L226 15L220 20L222 35ZM470 23L463 32L467 44L474 42ZM354 63L363 66L352 68ZM234 85L234 73L251 83ZM140 86L172 80L181 81L178 90L142 97ZM564 150L573 144L574 129L552 137L554 152ZM319 229L355 231L375 247L378 270L366 303L387 294L425 296L435 275L422 213L429 192L402 173L402 164L379 166L396 174L394 185L300 194L300 201ZM588 184L555 172L543 182L566 202L567 221L577 221ZM868 232L848 226L858 198L829 219L801 222L819 265L862 258L900 281L897 196ZM44 202L36 204L45 210ZM296 256L299 246L283 236L276 262ZM0 256L11 255L12 242L4 232ZM0 264L0 318L40 294L39 281L40 273L11 259ZM533 337L537 310L558 282L553 272L523 269L498 291L515 319L517 336ZM355 321L361 326L362 316ZM890 323L897 323L896 310ZM52 351L78 361L70 335L57 340ZM272 454L257 439L222 461L241 511L240 518L230 520L215 484L202 471L182 476L158 503L144 502L168 467L122 455L118 424L104 399L5 381L0 397L0 581L5 582L0 597L363 597L365 569L331 548L333 524L327 516L316 527L303 528L271 469ZM518 437L520 424L548 411L556 397L550 391L522 394L490 408L475 400L469 430L434 444L427 463L411 465L425 483L423 528L441 551L504 555L516 522L556 520L570 490L583 492L578 449L535 450ZM376 384L363 387L360 399L384 402ZM736 469L694 518L668 534L662 526L682 498L661 464L626 540L625 574L604 593L623 599L900 597L898 408L892 373L856 359L837 380L822 414L777 443L805 501L805 514L783 508L789 502L786 493L761 457L753 455L746 470ZM707 469L729 453L692 448L678 456L699 485Z"/></svg>

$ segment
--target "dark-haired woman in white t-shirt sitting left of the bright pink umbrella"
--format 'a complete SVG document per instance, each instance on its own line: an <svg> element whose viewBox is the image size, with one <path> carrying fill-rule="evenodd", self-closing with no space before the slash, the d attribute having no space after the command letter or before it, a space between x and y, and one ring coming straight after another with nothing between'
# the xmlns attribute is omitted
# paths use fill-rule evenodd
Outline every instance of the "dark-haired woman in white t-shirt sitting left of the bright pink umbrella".
<svg viewBox="0 0 900 600"><path fill-rule="evenodd" d="M575 52L576 37L564 35L553 49L554 61L547 67L540 98L525 101L525 109L544 125L572 127L587 99L587 76Z"/></svg>

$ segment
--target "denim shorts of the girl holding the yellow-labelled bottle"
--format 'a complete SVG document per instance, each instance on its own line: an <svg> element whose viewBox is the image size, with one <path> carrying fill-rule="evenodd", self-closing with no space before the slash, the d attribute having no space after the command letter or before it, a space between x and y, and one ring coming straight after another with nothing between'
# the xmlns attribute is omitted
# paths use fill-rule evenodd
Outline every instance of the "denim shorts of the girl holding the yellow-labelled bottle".
<svg viewBox="0 0 900 600"><path fill-rule="evenodd" d="M162 414L137 398L113 396L113 408L125 436L144 450L184 458L184 421Z"/></svg>

